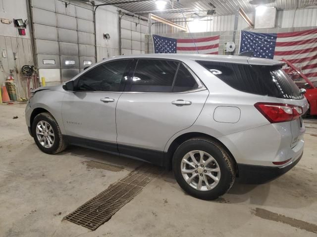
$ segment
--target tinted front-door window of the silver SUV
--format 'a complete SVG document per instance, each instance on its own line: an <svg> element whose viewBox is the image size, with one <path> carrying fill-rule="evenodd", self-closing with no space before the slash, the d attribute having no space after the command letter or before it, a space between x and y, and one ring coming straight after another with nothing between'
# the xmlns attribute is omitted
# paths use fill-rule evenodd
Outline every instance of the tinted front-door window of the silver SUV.
<svg viewBox="0 0 317 237"><path fill-rule="evenodd" d="M79 78L79 91L122 91L123 74L132 60L116 60L101 64Z"/></svg>

